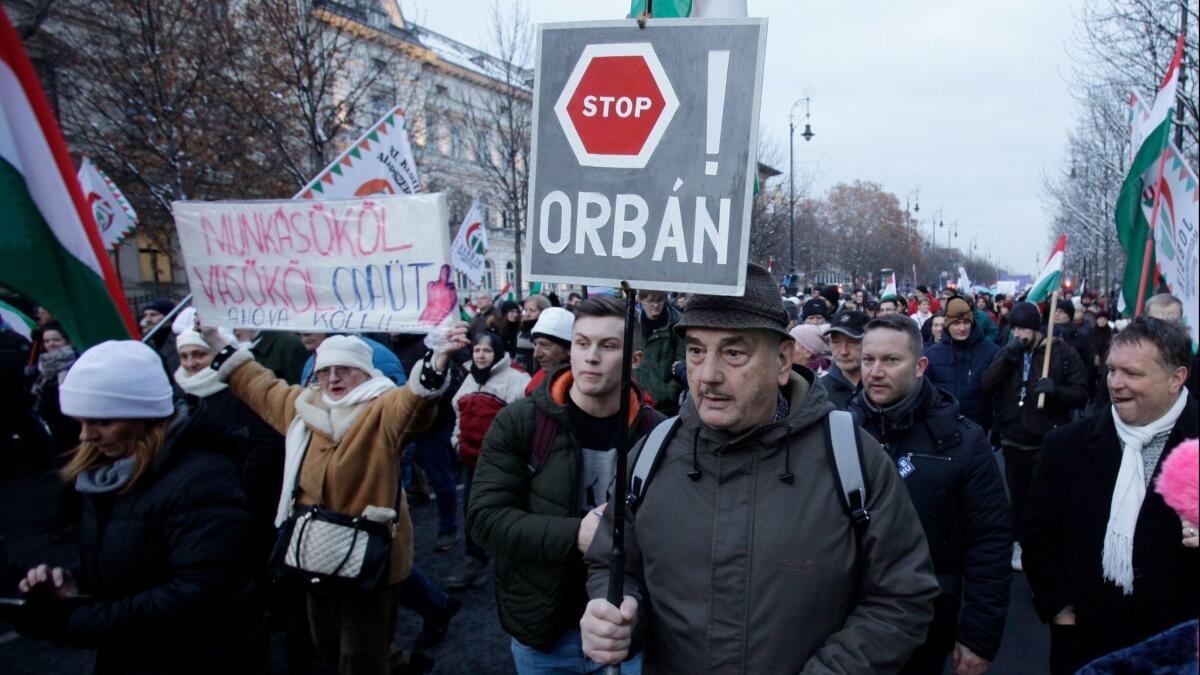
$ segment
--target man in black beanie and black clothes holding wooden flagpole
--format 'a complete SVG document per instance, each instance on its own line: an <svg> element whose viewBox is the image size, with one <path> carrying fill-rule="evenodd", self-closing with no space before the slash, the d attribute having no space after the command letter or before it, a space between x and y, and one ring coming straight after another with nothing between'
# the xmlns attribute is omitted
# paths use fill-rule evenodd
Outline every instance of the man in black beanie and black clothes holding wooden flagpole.
<svg viewBox="0 0 1200 675"><path fill-rule="evenodd" d="M1042 335L1042 312L1033 303L1013 305L1008 323L1013 338L996 354L980 384L991 396L992 430L1004 450L1004 473L1013 503L1013 522L1021 522L1025 498L1042 456L1046 432L1070 423L1070 414L1087 402L1087 372L1075 350L1055 336L1054 346ZM1050 372L1042 377L1045 351ZM1038 399L1045 396L1042 407ZM1020 532L1013 546L1013 569L1021 569Z"/></svg>

